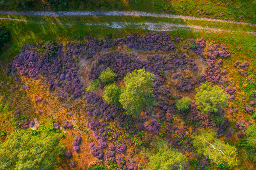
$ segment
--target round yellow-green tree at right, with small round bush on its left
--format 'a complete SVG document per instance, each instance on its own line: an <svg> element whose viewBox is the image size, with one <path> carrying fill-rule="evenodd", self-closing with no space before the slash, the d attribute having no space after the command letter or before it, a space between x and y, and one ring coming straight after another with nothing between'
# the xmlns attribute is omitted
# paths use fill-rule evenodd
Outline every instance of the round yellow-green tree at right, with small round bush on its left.
<svg viewBox="0 0 256 170"><path fill-rule="evenodd" d="M202 83L196 89L196 104L203 113L217 113L221 107L227 106L229 95L219 86L212 83Z"/></svg>

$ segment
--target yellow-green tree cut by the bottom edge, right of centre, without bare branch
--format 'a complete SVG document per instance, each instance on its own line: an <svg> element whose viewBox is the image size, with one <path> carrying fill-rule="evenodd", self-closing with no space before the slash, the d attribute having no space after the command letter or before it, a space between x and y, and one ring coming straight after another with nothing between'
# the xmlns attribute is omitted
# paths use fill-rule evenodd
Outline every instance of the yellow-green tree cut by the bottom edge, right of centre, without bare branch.
<svg viewBox="0 0 256 170"><path fill-rule="evenodd" d="M182 170L188 159L184 154L164 142L152 142L152 148L143 148L142 155L149 157L145 170Z"/></svg>

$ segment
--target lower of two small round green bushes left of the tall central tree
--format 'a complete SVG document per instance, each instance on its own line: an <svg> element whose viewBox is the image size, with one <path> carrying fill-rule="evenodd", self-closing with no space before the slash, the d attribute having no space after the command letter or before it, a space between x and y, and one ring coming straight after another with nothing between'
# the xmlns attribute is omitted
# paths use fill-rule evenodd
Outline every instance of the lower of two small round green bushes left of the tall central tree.
<svg viewBox="0 0 256 170"><path fill-rule="evenodd" d="M119 96L121 95L122 87L118 86L116 83L109 84L104 87L103 100L104 102L110 104L113 103L116 106L120 106Z"/></svg>

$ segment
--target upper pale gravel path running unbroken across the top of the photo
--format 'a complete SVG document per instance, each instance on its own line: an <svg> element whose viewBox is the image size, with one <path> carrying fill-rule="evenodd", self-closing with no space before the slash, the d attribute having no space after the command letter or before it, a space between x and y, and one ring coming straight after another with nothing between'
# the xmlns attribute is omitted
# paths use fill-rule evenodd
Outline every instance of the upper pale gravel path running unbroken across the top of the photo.
<svg viewBox="0 0 256 170"><path fill-rule="evenodd" d="M59 12L15 12L15 11L0 11L0 14L4 15L47 15L47 16L86 16L86 15L106 15L106 16L151 16L160 18L178 18L178 19L194 19L194 20L204 20L204 21L217 21L224 23L234 23L234 24L246 24L251 26L256 26L256 24L244 23L238 21L224 20L224 19L214 19L205 17L195 17L195 16L183 16L183 15L171 15L171 14L157 14L157 13L147 13L141 11L59 11Z"/></svg>

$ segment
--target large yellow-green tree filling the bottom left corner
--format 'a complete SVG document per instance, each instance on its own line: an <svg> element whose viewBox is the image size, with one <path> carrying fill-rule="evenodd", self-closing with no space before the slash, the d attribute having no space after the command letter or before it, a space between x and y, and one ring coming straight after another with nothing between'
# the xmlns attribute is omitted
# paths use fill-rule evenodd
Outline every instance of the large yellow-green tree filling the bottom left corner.
<svg viewBox="0 0 256 170"><path fill-rule="evenodd" d="M10 134L0 146L0 170L53 170L65 146L62 134L43 130L33 135L24 130Z"/></svg>

